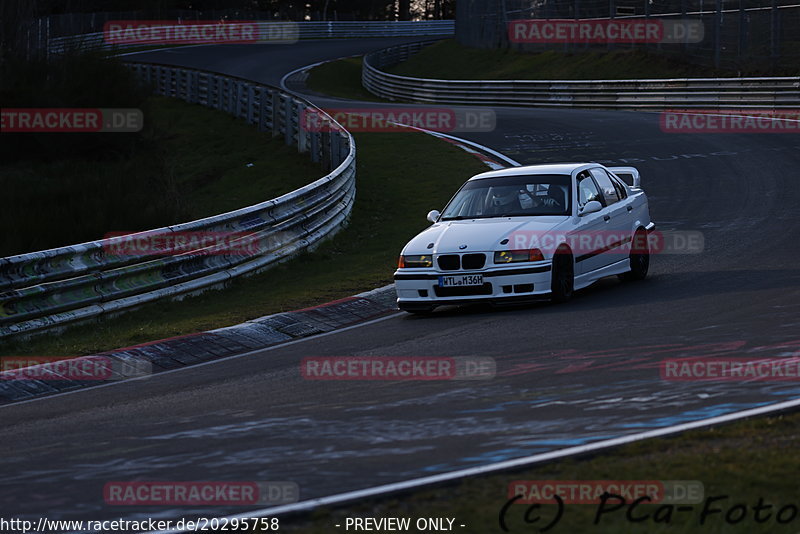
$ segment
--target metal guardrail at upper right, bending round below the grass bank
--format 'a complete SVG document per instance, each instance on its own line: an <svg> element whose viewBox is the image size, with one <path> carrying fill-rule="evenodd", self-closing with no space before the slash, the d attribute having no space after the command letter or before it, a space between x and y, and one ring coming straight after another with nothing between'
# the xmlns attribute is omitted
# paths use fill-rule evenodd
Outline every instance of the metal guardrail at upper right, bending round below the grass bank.
<svg viewBox="0 0 800 534"><path fill-rule="evenodd" d="M436 80L384 72L435 41L364 57L362 83L382 98L430 104L624 109L800 107L800 77L664 80Z"/></svg>

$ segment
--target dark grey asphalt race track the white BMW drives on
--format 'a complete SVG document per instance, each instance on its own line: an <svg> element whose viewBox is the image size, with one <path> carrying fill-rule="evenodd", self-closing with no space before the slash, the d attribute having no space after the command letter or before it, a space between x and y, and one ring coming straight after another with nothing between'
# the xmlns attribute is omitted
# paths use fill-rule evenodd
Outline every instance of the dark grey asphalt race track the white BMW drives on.
<svg viewBox="0 0 800 534"><path fill-rule="evenodd" d="M135 58L277 84L303 65L399 41L192 47ZM243 513L113 508L103 486L286 480L308 499L800 397L796 381L668 382L659 374L667 357L800 351L800 135L667 134L656 113L496 112L494 131L462 136L524 164L635 165L658 228L702 232L704 252L656 256L645 282L607 279L566 305L399 314L144 381L9 405L0 409L3 507L51 519ZM300 376L303 357L351 355L489 356L497 376Z"/></svg>

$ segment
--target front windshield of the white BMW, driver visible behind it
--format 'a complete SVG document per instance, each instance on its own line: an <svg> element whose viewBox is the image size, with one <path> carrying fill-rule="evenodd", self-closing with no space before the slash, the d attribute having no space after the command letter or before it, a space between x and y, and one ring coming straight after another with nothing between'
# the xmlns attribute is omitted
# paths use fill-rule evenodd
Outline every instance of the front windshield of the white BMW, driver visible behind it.
<svg viewBox="0 0 800 534"><path fill-rule="evenodd" d="M447 204L441 220L570 214L570 175L530 174L472 180Z"/></svg>

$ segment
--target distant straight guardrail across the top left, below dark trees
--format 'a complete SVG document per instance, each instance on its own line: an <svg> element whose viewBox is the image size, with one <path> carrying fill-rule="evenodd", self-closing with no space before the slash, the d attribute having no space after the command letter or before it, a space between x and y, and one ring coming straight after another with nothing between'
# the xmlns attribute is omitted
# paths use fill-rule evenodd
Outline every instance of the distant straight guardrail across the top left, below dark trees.
<svg viewBox="0 0 800 534"><path fill-rule="evenodd" d="M135 22L135 21L131 21ZM187 21L196 23L196 21ZM329 22L260 22L259 34L265 41L280 42L287 39L330 39L357 37L424 37L426 35L453 35L455 21L329 21ZM106 43L103 32L54 37L48 41L48 51L61 53L68 49L110 50L112 48L141 47L141 44Z"/></svg>

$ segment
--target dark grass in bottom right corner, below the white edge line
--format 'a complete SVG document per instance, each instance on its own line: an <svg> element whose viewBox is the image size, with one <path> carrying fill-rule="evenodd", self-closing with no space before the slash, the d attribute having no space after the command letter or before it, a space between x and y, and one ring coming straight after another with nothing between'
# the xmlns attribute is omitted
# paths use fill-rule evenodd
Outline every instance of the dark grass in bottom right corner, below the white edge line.
<svg viewBox="0 0 800 534"><path fill-rule="evenodd" d="M347 517L420 517L456 518L456 532L490 534L503 532L499 514L508 500L508 484L514 480L697 480L704 486L705 498L728 495L713 503L723 509L723 516L736 504L750 507L749 516L738 525L726 523L720 514L709 516L699 524L702 504L692 511L674 511L671 524L658 524L652 519L662 505L645 505L634 515L649 514L650 519L633 523L625 519L625 509L603 515L594 524L597 505L566 504L560 521L548 532L572 534L591 532L618 533L796 533L800 516L788 525L775 521L776 509L798 504L800 491L800 414L795 412L769 418L751 419L708 430L687 432L677 437L637 442L601 452L583 459L568 459L517 472L467 479L438 489L417 491L392 498L371 499L335 510L317 510L309 517L281 520L281 530L321 534L342 530ZM758 524L752 507L759 498L772 504L772 519ZM610 504L614 501L610 501ZM506 515L510 532L540 532L556 515L554 504L543 504L532 510L531 517L541 515L537 523L526 524L528 506L514 504ZM790 511L785 512L788 516ZM666 513L663 510L662 513ZM341 524L340 529L333 525ZM411 531L414 531L413 529Z"/></svg>

